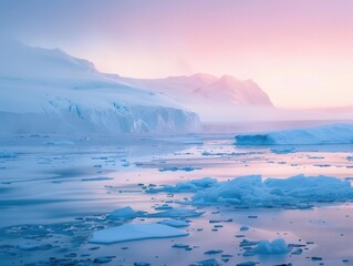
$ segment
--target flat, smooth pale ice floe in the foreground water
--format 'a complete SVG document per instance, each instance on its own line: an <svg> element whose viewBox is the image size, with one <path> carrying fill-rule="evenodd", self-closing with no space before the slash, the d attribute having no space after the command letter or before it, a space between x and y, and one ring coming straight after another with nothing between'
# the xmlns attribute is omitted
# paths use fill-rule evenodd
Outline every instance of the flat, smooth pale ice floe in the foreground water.
<svg viewBox="0 0 353 266"><path fill-rule="evenodd" d="M90 243L111 244L148 238L187 236L188 233L162 224L126 224L93 233Z"/></svg>

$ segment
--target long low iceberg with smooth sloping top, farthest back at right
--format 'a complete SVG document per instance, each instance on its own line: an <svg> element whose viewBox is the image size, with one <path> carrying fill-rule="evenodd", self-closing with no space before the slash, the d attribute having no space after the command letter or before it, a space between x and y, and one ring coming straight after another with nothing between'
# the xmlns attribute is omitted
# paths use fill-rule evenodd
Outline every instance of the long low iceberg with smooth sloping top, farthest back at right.
<svg viewBox="0 0 353 266"><path fill-rule="evenodd" d="M353 124L331 124L316 127L240 134L239 145L300 145L300 144L352 144Z"/></svg>

